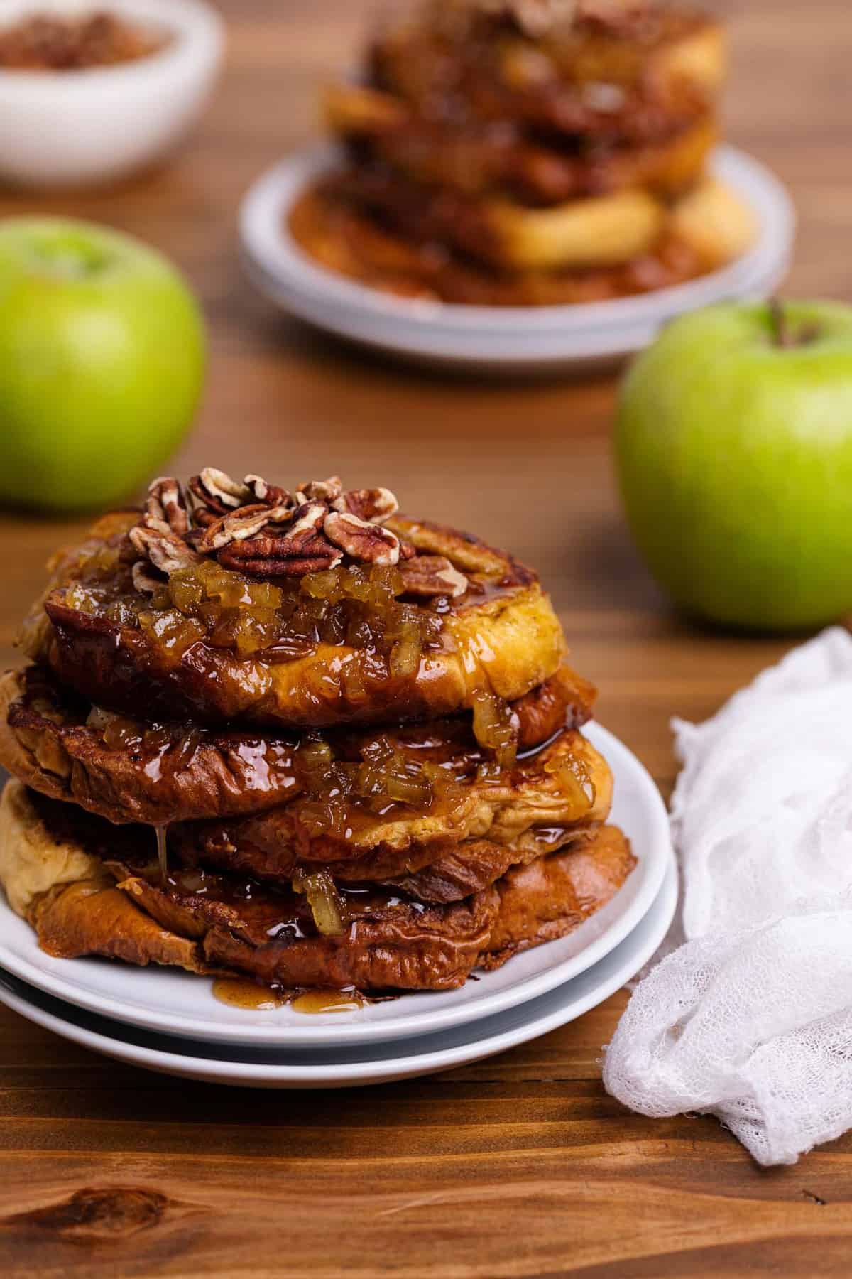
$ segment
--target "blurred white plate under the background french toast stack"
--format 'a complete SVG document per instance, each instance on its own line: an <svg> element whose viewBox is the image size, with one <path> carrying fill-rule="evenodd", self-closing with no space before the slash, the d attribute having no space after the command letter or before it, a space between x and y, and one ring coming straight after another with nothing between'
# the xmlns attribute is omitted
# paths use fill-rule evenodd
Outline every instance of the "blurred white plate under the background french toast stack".
<svg viewBox="0 0 852 1279"><path fill-rule="evenodd" d="M268 170L240 210L250 279L272 302L341 338L428 363L491 371L585 366L640 350L682 311L733 297L766 297L789 265L795 212L761 164L720 147L714 173L757 215L746 255L699 280L641 297L554 307L482 307L396 298L326 270L296 244L287 214L305 185L339 164L331 148L291 156Z"/></svg>

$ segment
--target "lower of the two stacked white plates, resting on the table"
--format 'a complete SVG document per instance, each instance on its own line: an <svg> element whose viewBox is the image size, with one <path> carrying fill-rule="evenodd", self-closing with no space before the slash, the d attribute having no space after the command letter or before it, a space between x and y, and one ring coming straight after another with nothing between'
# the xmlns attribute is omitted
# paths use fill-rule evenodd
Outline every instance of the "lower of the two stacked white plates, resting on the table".
<svg viewBox="0 0 852 1279"><path fill-rule="evenodd" d="M0 972L0 1003L64 1039L130 1065L209 1083L264 1088L342 1088L434 1074L493 1056L565 1026L608 999L648 963L674 914L669 852L659 894L625 940L572 981L528 1003L433 1035L347 1049L234 1049L132 1030L80 1012Z"/></svg>

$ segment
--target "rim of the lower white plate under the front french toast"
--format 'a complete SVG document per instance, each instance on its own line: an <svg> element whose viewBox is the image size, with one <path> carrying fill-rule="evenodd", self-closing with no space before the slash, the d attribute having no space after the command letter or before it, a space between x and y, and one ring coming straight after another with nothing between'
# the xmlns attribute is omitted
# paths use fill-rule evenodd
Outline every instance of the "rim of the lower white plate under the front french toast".
<svg viewBox="0 0 852 1279"><path fill-rule="evenodd" d="M429 1049L429 1040L439 1039L424 1036L422 1048L425 1051L410 1054L409 1056L393 1055L393 1050L400 1045L388 1045L391 1050L381 1060L345 1063L328 1062L326 1064L273 1064L273 1063L247 1063L227 1059L209 1059L203 1056L203 1045L197 1045L202 1051L198 1055L188 1055L186 1051L171 1051L169 1049L149 1049L125 1040L111 1037L97 1031L91 1031L77 1022L65 1021L57 1014L46 1012L29 1003L14 991L9 990L0 981L0 1003L19 1013L27 1021L34 1022L45 1030L60 1035L82 1048L101 1053L105 1056L123 1062L129 1065L143 1067L165 1074L181 1078L198 1079L213 1083L229 1083L243 1087L278 1087L278 1088L317 1088L317 1087L353 1087L372 1083L387 1083L396 1079L409 1079L423 1074L433 1074L438 1071L453 1067L468 1065L473 1062L483 1060L497 1053L503 1053L519 1044L528 1042L548 1031L557 1030L567 1022L576 1021L591 1008L597 1008L605 999L620 990L631 980L658 950L666 938L674 911L677 907L677 868L674 853L669 852L666 875L660 890L651 903L651 908L640 921L637 929L630 934L620 946L605 955L598 966L580 975L582 994L577 994L577 980L557 986L553 991L542 996L547 1001L547 1012L522 1018L507 1030L492 1030L492 1033L465 1039L452 1048ZM631 945L632 943L632 945ZM598 981L594 980L595 969ZM575 986L574 998L571 986ZM567 996L568 1003L565 1003ZM521 1009L529 1009L529 1004ZM499 1021L499 1016L497 1018ZM164 1036L169 1039L169 1036ZM174 1040L175 1048L179 1046ZM404 1049L416 1048L418 1040L406 1040Z"/></svg>

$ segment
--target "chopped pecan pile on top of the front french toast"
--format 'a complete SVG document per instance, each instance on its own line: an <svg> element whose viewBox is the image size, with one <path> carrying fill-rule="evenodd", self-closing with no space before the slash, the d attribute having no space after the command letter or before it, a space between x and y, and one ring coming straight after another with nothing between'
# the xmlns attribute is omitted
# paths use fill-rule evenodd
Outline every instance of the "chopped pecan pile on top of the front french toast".
<svg viewBox="0 0 852 1279"><path fill-rule="evenodd" d="M139 591L151 593L161 585L146 560L169 574L212 555L252 577L300 577L336 568L344 554L379 565L415 555L381 527L397 510L388 489L344 491L331 476L301 485L294 495L263 476L235 481L215 467L204 467L188 487L192 517L176 480L156 480L148 490L144 513L129 535Z"/></svg>

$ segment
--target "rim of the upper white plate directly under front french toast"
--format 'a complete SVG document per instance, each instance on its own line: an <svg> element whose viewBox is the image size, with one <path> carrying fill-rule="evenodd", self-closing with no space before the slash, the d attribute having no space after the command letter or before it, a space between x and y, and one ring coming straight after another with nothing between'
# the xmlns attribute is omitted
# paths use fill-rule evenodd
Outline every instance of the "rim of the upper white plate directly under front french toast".
<svg viewBox="0 0 852 1279"><path fill-rule="evenodd" d="M600 724L595 721L586 724L584 732L591 743L600 749L613 771L616 779L616 802L618 802L620 792L625 793L628 789L635 792L643 817L650 828L650 839L648 839L648 847L635 847L634 849L639 859L639 866L625 885L625 888L630 886L631 890L635 890L635 895L626 908L616 916L604 931L593 936L589 944L579 953L571 954L561 962L548 966L547 957L548 954L553 957L554 948L559 948L561 943L570 945L570 938L545 943L544 946L536 946L526 952L525 955L519 955L510 961L510 964L517 964L519 961L536 964L539 971L526 977L526 980L503 985L502 978L497 977L497 975L484 975L476 986L479 998L476 998L476 994L471 994L470 999L461 1003L453 1003L451 999L447 999L445 1004L441 1003L442 994L453 996L457 995L456 991L401 995L395 1000L393 1005L378 1005L378 1008L400 1008L404 1000L423 1000L423 1008L415 1012L409 1010L409 1005L405 1005L399 1017L395 1017L393 1010L391 1010L387 1014L379 1013L373 1022L367 1019L369 1017L369 1005L361 1010L360 1019L342 1021L342 1017L347 1014L336 1014L339 1019L335 1019L335 1016L328 1018L312 1017L304 1019L307 1023L304 1027L291 1023L286 1026L276 1023L272 1021L273 1012L262 1014L263 1021L259 1024L249 1022L248 1017L244 1021L217 1022L209 1017L193 1017L190 1013L183 1010L180 1013L164 1013L162 1009L153 1005L153 1000L151 1004L134 1003L133 999L115 998L109 993L92 989L92 981L97 984L98 973L98 969L92 966L97 963L107 966L101 969L103 973L112 975L118 972L119 980L126 977L132 987L133 985L144 982L146 989L149 989L152 994L156 991L156 986L152 984L157 981L158 976L167 977L170 973L175 975L175 972L174 969L158 971L155 967L149 967L142 969L128 968L125 973L120 966L116 967L109 961L93 961L89 958L57 961L50 955L43 955L43 952L37 946L36 936L29 926L13 914L1 894L0 921L5 917L13 934L20 935L24 939L23 944L31 958L27 954L20 954L18 950L10 949L10 943L5 936L0 936L0 966L22 981L29 982L29 985L42 990L45 994L54 995L79 1008L126 1022L132 1026L152 1031L171 1031L215 1042L257 1044L272 1048L314 1046L321 1044L342 1045L424 1035L432 1031L447 1030L462 1022L476 1021L482 1017L502 1012L513 1004L525 1003L593 967L635 929L659 891L671 852L668 813L659 790L646 769L632 751ZM630 836L631 831L627 830L626 834ZM639 875L639 879L634 880L636 875ZM639 888L636 889L637 884ZM616 894L609 907L604 907L604 911L600 912L603 918L605 918L604 912L607 909L611 909L611 913L617 909L620 895L625 894L625 888ZM588 934L597 931L595 916L581 925L574 934L574 938L581 938L582 930ZM556 953L558 953L558 949ZM77 973L80 975L80 981L83 981L83 977L86 978L83 984L74 980L75 966L82 964L86 967L77 967ZM55 972L52 971L52 966L61 967L63 971ZM498 969L498 973L503 975L510 972L508 964L503 969ZM178 976L183 978L184 975ZM494 985L499 984L502 989L489 993L489 977L494 980ZM209 978L186 975L186 980L192 984L206 984L203 987L206 990L209 987ZM106 976L106 981L111 985L110 976ZM161 989L164 987L161 986ZM466 990L468 987L462 989ZM428 1004L425 1003L427 1000ZM281 1010L281 1016L285 1016L285 1010Z"/></svg>

